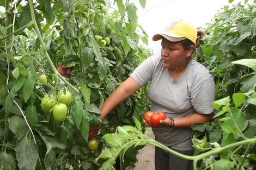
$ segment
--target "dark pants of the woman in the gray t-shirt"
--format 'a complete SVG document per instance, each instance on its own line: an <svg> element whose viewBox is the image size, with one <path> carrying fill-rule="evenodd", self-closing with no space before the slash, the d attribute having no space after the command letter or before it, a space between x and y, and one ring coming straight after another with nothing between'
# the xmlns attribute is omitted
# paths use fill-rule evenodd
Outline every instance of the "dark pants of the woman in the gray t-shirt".
<svg viewBox="0 0 256 170"><path fill-rule="evenodd" d="M172 150L188 156L194 154L193 150ZM156 170L193 170L193 161L155 147L155 168Z"/></svg>

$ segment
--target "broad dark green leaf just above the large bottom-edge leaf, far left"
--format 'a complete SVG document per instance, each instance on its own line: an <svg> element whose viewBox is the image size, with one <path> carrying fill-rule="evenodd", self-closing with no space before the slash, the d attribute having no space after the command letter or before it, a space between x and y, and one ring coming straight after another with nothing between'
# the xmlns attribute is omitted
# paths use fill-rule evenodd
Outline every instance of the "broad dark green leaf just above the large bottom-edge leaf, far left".
<svg viewBox="0 0 256 170"><path fill-rule="evenodd" d="M28 125L21 116L13 116L8 118L10 130L17 136L21 138L25 136L28 132Z"/></svg>

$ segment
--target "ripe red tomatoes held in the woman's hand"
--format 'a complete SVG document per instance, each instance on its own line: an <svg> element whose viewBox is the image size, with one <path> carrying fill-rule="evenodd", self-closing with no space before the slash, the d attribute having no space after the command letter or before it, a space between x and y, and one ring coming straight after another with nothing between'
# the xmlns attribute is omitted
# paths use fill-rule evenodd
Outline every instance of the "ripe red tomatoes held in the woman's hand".
<svg viewBox="0 0 256 170"><path fill-rule="evenodd" d="M147 123L150 123L151 125L153 125L154 127L156 127L157 125L160 124L161 120L166 119L167 116L163 111L160 112L153 112L153 111L147 111L144 114L144 119Z"/></svg>

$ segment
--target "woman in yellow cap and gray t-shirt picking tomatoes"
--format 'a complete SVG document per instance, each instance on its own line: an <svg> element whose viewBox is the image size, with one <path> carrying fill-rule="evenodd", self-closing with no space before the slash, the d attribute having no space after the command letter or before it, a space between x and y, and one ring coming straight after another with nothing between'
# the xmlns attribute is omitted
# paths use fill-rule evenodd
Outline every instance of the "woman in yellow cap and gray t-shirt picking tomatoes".
<svg viewBox="0 0 256 170"><path fill-rule="evenodd" d="M208 122L213 116L211 102L215 100L215 82L202 64L193 60L192 53L204 33L185 21L173 21L160 34L161 54L150 56L130 77L108 97L101 108L101 119L115 106L130 97L150 81L148 97L150 111L164 111L167 118L152 127L155 140L181 154L193 155L191 142L193 123ZM157 170L193 169L192 161L155 148Z"/></svg>

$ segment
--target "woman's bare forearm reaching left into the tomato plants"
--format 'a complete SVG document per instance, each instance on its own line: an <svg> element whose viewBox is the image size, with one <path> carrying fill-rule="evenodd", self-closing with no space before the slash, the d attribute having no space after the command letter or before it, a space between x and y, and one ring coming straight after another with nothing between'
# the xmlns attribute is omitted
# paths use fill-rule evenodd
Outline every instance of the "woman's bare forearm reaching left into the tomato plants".
<svg viewBox="0 0 256 170"><path fill-rule="evenodd" d="M107 114L115 108L118 104L123 102L126 98L135 93L141 85L139 85L131 77L127 78L113 93L106 99L101 108L101 120L107 116Z"/></svg>

